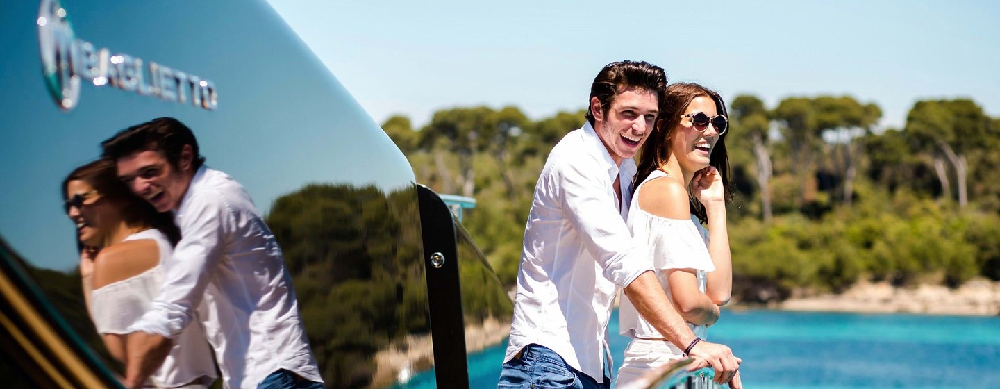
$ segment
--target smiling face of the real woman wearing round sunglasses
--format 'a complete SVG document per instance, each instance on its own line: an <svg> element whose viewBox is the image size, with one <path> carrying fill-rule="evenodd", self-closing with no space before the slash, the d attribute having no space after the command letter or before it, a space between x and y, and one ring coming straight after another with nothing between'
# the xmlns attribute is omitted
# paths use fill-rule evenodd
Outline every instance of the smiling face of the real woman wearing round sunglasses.
<svg viewBox="0 0 1000 389"><path fill-rule="evenodd" d="M695 97L681 115L697 112L702 112L709 117L718 115L715 102L708 96ZM691 124L690 117L684 117L674 129L674 134L670 139L670 151L677 158L682 169L693 173L708 167L709 157L718 141L719 132L711 123L702 132Z"/></svg>

